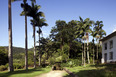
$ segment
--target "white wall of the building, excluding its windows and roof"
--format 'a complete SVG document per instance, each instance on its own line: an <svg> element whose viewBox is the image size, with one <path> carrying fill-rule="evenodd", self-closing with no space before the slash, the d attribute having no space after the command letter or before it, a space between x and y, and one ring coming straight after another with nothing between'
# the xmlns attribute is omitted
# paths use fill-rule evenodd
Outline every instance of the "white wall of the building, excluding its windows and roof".
<svg viewBox="0 0 116 77"><path fill-rule="evenodd" d="M110 41L113 40L113 48L110 49ZM107 50L104 50L104 44L107 43ZM113 60L110 60L109 52L113 52ZM116 61L116 36L102 42L102 60L104 63L104 54L107 53L107 62Z"/></svg>

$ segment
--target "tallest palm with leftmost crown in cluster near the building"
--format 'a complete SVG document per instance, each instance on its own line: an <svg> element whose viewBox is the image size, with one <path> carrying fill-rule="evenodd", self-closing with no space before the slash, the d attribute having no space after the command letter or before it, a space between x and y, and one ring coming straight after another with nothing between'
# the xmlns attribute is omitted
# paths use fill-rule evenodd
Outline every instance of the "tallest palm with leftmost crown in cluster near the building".
<svg viewBox="0 0 116 77"><path fill-rule="evenodd" d="M83 20L81 17L79 17L80 21L78 21L77 23L77 37L81 37L83 38L86 34L86 39L88 40L89 35L88 33L90 33L90 26L92 21L90 21L89 18L86 18L85 20ZM90 63L89 60L89 52L88 52L88 42L87 42L87 58L88 58L88 63Z"/></svg>

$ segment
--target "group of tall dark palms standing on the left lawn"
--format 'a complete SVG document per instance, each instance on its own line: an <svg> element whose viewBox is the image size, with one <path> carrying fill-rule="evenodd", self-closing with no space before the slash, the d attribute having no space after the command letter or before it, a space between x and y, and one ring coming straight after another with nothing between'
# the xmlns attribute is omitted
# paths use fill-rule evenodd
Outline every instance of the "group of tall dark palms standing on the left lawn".
<svg viewBox="0 0 116 77"><path fill-rule="evenodd" d="M11 2L21 1L21 0L9 0L8 1L8 9L9 9L9 71L14 71L13 69L13 51L12 51L12 17L11 17ZM21 12L21 16L25 16L25 69L28 70L28 39L27 39L27 17L31 17L31 24L33 26L33 38L34 38L34 68L36 67L36 49L35 49L35 27L38 27L37 33L39 35L40 42L40 34L42 33L41 28L43 26L47 26L45 23L45 15L43 12L39 11L41 8L40 5L36 5L36 0L30 0L31 5L27 3L27 0L22 0L21 8L23 11ZM39 44L40 45L40 44ZM41 65L41 51L39 51L39 65Z"/></svg>

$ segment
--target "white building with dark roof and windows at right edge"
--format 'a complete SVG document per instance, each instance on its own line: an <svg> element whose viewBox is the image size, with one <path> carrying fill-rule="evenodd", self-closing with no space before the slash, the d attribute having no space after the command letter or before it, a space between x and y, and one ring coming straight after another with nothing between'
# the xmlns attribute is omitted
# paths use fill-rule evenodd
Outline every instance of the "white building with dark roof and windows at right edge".
<svg viewBox="0 0 116 77"><path fill-rule="evenodd" d="M101 39L102 63L116 62L116 31Z"/></svg>

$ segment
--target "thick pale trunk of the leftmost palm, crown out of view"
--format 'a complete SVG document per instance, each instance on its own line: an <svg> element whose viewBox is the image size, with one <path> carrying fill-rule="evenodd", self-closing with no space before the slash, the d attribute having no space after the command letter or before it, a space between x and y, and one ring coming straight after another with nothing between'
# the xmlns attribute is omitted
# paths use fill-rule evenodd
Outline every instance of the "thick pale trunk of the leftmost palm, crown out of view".
<svg viewBox="0 0 116 77"><path fill-rule="evenodd" d="M9 23L9 52L8 52L8 58L9 58L9 67L8 70L14 71L13 69L13 51L12 51L12 15L11 15L11 0L8 0L8 23Z"/></svg>

